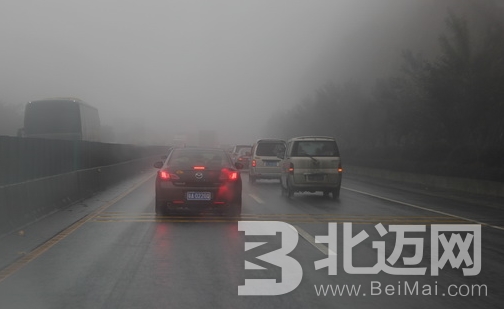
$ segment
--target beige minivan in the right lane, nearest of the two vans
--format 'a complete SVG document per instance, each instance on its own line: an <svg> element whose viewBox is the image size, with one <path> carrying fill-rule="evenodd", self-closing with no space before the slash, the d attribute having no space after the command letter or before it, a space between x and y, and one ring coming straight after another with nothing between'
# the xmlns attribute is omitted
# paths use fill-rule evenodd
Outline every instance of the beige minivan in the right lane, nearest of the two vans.
<svg viewBox="0 0 504 309"><path fill-rule="evenodd" d="M325 196L340 195L343 169L336 140L326 136L302 136L287 141L282 160L282 194L322 191Z"/></svg>

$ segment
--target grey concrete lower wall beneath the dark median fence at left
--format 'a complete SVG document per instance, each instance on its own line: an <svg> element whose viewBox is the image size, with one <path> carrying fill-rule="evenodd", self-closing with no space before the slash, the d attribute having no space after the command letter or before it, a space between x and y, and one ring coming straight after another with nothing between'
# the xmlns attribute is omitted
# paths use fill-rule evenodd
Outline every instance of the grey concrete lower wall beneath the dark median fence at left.
<svg viewBox="0 0 504 309"><path fill-rule="evenodd" d="M0 186L0 236L152 167L161 155Z"/></svg>

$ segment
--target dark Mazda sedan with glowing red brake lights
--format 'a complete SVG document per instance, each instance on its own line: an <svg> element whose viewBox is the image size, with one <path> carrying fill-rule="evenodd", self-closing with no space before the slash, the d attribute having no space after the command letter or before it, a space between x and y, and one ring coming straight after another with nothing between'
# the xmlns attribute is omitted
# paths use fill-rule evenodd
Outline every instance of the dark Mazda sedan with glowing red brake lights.
<svg viewBox="0 0 504 309"><path fill-rule="evenodd" d="M213 210L241 214L241 163L222 149L175 148L156 162L156 214Z"/></svg>

